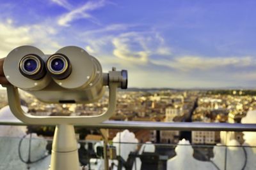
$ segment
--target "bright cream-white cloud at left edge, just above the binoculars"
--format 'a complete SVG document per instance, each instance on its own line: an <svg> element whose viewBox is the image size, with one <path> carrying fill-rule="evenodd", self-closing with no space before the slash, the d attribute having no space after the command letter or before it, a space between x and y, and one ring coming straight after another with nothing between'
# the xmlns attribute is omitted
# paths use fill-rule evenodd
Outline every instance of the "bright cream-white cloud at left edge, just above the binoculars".
<svg viewBox="0 0 256 170"><path fill-rule="evenodd" d="M21 45L35 45L43 52L55 52L60 45L54 40L56 30L47 25L15 26L11 19L0 23L0 57Z"/></svg>

